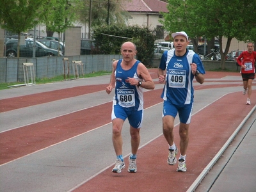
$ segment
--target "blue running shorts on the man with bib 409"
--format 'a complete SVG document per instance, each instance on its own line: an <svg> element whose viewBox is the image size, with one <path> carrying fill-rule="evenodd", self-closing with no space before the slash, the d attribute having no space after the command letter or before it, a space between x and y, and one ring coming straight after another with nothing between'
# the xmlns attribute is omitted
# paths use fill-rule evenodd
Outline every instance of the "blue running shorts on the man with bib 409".
<svg viewBox="0 0 256 192"><path fill-rule="evenodd" d="M170 100L164 100L163 117L166 115L171 115L173 118L175 118L177 113L179 113L180 122L183 124L190 124L192 109L193 103L177 106L172 104Z"/></svg>

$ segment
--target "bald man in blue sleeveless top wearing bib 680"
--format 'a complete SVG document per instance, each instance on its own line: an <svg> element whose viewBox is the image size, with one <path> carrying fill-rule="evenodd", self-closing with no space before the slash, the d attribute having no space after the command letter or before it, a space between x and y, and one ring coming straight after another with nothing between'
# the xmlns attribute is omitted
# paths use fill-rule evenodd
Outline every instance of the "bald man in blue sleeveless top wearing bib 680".
<svg viewBox="0 0 256 192"><path fill-rule="evenodd" d="M136 60L136 45L125 42L121 47L123 59L113 62L113 70L106 92L115 88L112 109L113 145L116 164L112 172L121 173L125 167L122 155L122 126L126 118L130 124L131 156L128 172L137 172L136 157L140 145L140 128L143 120L143 89L154 90L155 84L143 63Z"/></svg>

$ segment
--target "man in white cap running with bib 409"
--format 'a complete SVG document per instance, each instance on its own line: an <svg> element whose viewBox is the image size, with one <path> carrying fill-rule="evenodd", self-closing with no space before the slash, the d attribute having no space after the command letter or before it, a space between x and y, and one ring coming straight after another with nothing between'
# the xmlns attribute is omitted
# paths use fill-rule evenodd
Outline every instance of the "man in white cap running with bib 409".
<svg viewBox="0 0 256 192"><path fill-rule="evenodd" d="M169 145L167 163L177 162L178 149L174 143L174 119L179 113L180 157L177 172L186 172L188 129L193 109L193 79L204 83L204 66L198 54L186 49L188 35L184 31L172 33L175 49L164 52L158 69L159 83L165 83L161 97L163 104L163 134Z"/></svg>

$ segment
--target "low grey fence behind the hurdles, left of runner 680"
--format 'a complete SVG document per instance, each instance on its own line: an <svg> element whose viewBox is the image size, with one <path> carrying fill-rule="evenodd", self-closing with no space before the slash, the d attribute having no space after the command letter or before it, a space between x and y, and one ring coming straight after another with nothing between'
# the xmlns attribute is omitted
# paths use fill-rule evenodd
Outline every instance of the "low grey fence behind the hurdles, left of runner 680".
<svg viewBox="0 0 256 192"><path fill-rule="evenodd" d="M60 56L40 58L0 58L0 83L24 82L23 63L33 63L35 77L55 77L64 74L63 58ZM82 61L84 74L99 71L111 71L113 59L119 60L121 55L82 55L65 56L73 73L72 61ZM66 70L67 71L67 70Z"/></svg>

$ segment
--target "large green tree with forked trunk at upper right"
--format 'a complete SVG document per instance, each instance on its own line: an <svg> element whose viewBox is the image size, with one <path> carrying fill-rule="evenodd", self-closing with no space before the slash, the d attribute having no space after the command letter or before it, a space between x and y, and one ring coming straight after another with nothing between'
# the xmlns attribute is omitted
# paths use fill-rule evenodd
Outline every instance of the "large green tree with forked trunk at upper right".
<svg viewBox="0 0 256 192"><path fill-rule="evenodd" d="M170 13L163 13L164 27L172 31L187 31L192 38L217 37L222 69L225 69L225 56L232 38L255 39L256 0L234 0L232 3L222 0L168 0L168 3ZM226 45L222 44L223 37L227 38Z"/></svg>

